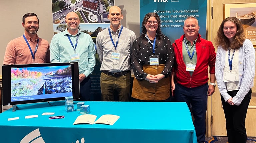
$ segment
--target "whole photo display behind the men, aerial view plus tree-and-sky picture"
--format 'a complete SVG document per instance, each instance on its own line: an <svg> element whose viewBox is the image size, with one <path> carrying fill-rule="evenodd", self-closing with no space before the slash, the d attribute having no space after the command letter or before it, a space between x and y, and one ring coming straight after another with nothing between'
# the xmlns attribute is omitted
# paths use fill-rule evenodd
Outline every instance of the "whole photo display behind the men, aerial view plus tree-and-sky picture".
<svg viewBox="0 0 256 143"><path fill-rule="evenodd" d="M53 33L65 31L65 17L73 11L80 19L79 30L96 43L98 33L109 27L108 11L113 5L114 0L52 0Z"/></svg>

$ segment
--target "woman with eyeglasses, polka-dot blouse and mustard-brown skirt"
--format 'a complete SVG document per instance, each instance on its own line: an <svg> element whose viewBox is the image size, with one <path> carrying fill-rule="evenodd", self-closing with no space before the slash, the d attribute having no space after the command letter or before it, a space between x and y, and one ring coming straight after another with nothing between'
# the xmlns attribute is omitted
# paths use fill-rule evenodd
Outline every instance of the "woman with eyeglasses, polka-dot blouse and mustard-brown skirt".
<svg viewBox="0 0 256 143"><path fill-rule="evenodd" d="M170 75L174 64L172 43L162 34L157 13L148 13L142 32L131 47L134 72L133 101L165 101L170 97Z"/></svg>

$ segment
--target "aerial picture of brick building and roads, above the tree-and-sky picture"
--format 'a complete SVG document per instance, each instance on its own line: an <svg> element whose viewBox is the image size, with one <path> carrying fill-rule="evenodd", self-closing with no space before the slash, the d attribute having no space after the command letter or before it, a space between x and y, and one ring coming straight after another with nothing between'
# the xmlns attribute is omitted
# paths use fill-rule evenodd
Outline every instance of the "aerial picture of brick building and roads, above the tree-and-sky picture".
<svg viewBox="0 0 256 143"><path fill-rule="evenodd" d="M52 0L53 24L65 24L66 15L73 11L81 24L109 23L108 11L114 0Z"/></svg>

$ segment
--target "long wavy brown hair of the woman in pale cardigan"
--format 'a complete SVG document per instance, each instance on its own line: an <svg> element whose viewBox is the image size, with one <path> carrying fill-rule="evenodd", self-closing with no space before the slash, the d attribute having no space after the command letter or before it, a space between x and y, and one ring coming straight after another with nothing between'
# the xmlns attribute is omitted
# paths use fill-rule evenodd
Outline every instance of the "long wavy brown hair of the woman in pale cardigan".
<svg viewBox="0 0 256 143"><path fill-rule="evenodd" d="M229 39L224 35L224 32L223 32L224 23L227 21L233 22L237 27L236 35L232 42L229 41ZM217 37L215 38L215 44L217 47L221 46L225 50L228 50L229 47L231 49L238 49L243 45L245 38L246 36L240 20L237 19L236 17L228 17L222 21L219 27L219 30L217 32Z"/></svg>

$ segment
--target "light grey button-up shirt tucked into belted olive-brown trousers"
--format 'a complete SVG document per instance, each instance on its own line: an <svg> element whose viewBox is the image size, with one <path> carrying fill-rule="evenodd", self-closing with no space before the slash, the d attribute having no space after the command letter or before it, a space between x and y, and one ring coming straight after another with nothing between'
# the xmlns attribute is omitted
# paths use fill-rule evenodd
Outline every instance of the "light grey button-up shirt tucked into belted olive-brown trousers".
<svg viewBox="0 0 256 143"><path fill-rule="evenodd" d="M121 27L114 32L111 30L111 35L114 43L118 39L119 31ZM125 27L123 27L122 33L119 37L117 48L110 39L108 28L98 33L96 38L97 53L99 55L101 67L100 71L120 72L131 70L130 62L130 47L132 47L133 41L136 39L135 33ZM112 53L119 53L119 60L111 59Z"/></svg>

